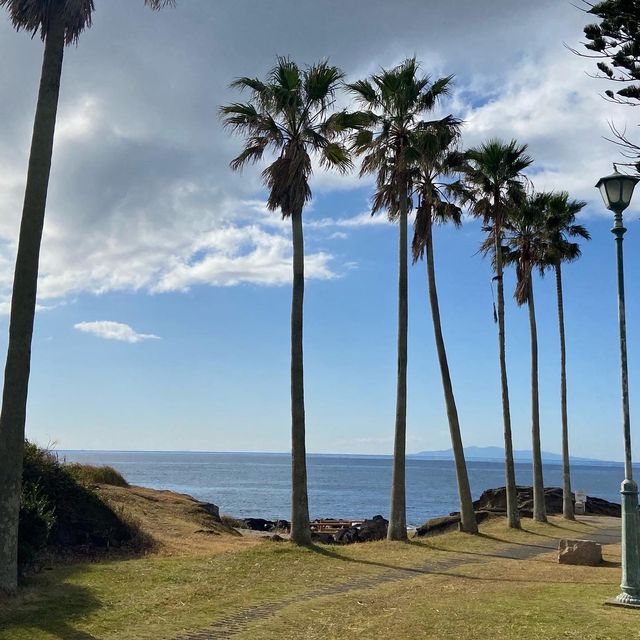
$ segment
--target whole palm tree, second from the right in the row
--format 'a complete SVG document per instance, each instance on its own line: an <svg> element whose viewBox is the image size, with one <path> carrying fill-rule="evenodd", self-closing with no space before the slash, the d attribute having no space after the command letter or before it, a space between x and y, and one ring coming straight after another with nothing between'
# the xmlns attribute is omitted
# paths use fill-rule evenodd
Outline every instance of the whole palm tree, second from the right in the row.
<svg viewBox="0 0 640 640"><path fill-rule="evenodd" d="M546 267L545 210L548 196L529 195L525 202L509 215L506 222L508 251L505 261L516 267L514 298L519 306L529 310L531 334L531 442L533 465L533 518L546 522L542 450L540 446L540 399L538 381L538 329L533 295L533 271L544 273Z"/></svg>

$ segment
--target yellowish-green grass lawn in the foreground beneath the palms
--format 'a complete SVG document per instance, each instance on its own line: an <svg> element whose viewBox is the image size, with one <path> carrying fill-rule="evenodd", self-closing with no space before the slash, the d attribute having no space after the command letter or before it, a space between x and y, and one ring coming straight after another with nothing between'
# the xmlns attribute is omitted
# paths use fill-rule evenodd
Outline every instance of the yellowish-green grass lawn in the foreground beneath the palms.
<svg viewBox="0 0 640 640"><path fill-rule="evenodd" d="M557 518L523 524L510 531L496 519L479 536L311 549L227 535L208 543L194 533L198 544L187 539L183 553L36 575L17 599L0 603L0 640L161 640L216 622L234 628L234 637L265 640L640 639L640 611L603 606L618 593L618 546L605 547L601 567L561 566L544 547L558 537L588 538L594 526ZM544 553L499 557L518 545ZM262 615L240 623L238 614L255 607Z"/></svg>

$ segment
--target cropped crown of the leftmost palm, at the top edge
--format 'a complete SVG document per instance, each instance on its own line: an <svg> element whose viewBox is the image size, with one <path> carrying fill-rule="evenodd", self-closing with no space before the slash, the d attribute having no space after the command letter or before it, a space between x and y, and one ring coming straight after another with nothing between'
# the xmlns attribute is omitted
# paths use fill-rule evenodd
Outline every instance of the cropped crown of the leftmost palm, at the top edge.
<svg viewBox="0 0 640 640"><path fill-rule="evenodd" d="M161 9L174 5L175 0L144 0L151 9ZM7 7L13 26L20 31L40 32L45 40L49 33L55 12L62 11L64 39L67 44L78 41L80 34L91 27L91 16L95 9L94 0L0 0L0 7Z"/></svg>

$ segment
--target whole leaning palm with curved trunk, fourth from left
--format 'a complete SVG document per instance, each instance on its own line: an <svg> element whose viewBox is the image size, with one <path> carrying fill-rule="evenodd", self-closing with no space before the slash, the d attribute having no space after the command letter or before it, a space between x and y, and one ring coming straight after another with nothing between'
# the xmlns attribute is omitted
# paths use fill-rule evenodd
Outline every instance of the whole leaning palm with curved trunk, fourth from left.
<svg viewBox="0 0 640 640"><path fill-rule="evenodd" d="M449 432L451 434L451 445L456 467L461 529L468 533L477 533L478 524L469 487L458 409L453 394L447 352L442 336L433 256L433 225L450 222L459 227L462 224L460 207L448 201L443 193L446 187L439 182L442 177L455 172L461 164L460 154L452 149L459 138L459 131L459 123L452 122L450 127L442 127L440 132L427 131L415 136L413 147L416 161L413 183L418 198L418 206L416 208L412 249L414 263L426 255L431 319L433 321L442 390L447 407Z"/></svg>

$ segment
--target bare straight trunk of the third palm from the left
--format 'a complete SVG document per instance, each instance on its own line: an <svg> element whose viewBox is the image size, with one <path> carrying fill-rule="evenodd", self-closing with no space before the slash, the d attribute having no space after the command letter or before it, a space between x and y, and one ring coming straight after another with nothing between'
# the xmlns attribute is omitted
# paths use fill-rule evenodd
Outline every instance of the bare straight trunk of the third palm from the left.
<svg viewBox="0 0 640 640"><path fill-rule="evenodd" d="M396 388L396 428L393 447L393 478L391 483L391 512L389 540L407 539L405 456L407 439L407 215L406 188L400 204L400 247L398 273L398 380Z"/></svg>

